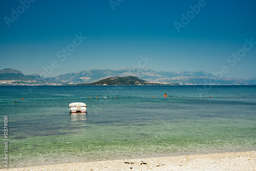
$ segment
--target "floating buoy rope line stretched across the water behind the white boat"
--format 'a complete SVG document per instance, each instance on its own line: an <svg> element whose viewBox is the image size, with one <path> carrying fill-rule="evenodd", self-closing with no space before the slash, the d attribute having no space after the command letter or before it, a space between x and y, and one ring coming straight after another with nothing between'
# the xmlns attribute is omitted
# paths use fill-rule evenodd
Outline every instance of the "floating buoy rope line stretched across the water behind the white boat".
<svg viewBox="0 0 256 171"><path fill-rule="evenodd" d="M150 97L99 97L102 99L110 99L110 98L213 98L213 97L227 97L227 98L239 98L239 97L256 97L256 96L172 96L172 97L162 97L162 96L150 96ZM70 98L24 98L24 99L0 99L0 101L4 100L55 100L55 99L90 99L91 97L70 97ZM94 97L96 98L96 97Z"/></svg>

